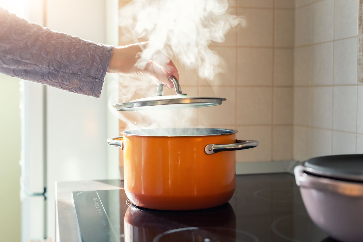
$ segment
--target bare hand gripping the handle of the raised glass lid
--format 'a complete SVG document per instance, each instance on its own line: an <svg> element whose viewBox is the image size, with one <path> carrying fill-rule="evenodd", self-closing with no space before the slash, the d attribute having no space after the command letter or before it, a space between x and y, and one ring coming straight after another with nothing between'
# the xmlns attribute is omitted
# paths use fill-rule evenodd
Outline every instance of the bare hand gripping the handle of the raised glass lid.
<svg viewBox="0 0 363 242"><path fill-rule="evenodd" d="M144 59L140 53L148 42L114 47L107 72L120 75L146 74L156 83L163 83L168 88L174 85L167 76L179 80L179 73L174 63L160 50L152 55L150 60Z"/></svg>

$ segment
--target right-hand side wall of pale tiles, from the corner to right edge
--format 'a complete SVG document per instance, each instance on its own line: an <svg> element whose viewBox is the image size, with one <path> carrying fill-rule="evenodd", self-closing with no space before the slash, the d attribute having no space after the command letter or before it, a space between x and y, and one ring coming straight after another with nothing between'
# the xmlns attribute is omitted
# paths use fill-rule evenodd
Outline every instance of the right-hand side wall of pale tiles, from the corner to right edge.
<svg viewBox="0 0 363 242"><path fill-rule="evenodd" d="M360 2L296 0L293 142L296 160L363 152Z"/></svg>

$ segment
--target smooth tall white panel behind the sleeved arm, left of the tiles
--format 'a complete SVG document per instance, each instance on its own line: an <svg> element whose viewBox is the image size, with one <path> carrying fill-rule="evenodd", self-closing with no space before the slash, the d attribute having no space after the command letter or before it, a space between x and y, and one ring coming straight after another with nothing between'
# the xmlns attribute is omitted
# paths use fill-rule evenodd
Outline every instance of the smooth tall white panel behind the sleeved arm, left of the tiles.
<svg viewBox="0 0 363 242"><path fill-rule="evenodd" d="M105 1L48 1L49 29L106 42ZM48 237L54 240L54 182L107 179L107 98L47 87Z"/></svg>

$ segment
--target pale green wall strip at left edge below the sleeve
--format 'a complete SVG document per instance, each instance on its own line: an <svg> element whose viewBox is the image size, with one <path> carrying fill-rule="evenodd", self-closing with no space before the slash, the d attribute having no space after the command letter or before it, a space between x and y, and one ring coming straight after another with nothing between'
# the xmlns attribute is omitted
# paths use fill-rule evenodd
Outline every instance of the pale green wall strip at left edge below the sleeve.
<svg viewBox="0 0 363 242"><path fill-rule="evenodd" d="M20 241L20 92L19 78L0 74L1 241Z"/></svg>

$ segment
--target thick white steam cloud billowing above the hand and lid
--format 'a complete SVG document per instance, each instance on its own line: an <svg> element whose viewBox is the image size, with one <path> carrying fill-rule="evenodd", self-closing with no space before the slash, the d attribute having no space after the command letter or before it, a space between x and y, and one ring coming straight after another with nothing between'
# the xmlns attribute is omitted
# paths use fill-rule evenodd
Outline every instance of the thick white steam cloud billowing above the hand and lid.
<svg viewBox="0 0 363 242"><path fill-rule="evenodd" d="M234 26L245 24L241 16L227 13L227 0L133 0L120 9L121 41L146 38L142 53L149 60L157 50L197 69L201 78L212 80L219 72L219 57L208 48L224 42Z"/></svg>

